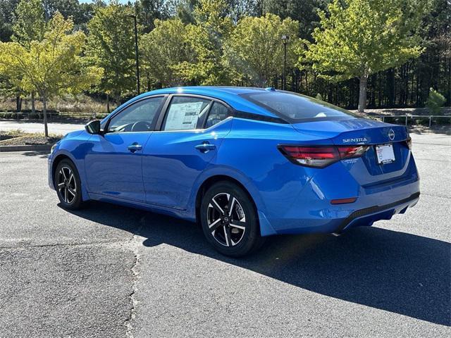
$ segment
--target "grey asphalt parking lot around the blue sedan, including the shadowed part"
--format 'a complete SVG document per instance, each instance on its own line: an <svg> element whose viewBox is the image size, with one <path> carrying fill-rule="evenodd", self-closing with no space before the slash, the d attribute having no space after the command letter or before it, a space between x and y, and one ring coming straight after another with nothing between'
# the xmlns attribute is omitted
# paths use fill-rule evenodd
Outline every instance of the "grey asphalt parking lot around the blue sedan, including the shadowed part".
<svg viewBox="0 0 451 338"><path fill-rule="evenodd" d="M449 337L451 136L412 139L407 213L242 259L175 218L65 211L46 154L0 154L0 337Z"/></svg>

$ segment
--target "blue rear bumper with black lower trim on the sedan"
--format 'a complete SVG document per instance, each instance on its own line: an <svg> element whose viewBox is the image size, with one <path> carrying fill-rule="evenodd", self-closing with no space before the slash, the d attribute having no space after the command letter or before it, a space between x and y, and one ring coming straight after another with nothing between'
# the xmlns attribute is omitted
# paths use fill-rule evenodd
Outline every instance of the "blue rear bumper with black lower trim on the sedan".
<svg viewBox="0 0 451 338"><path fill-rule="evenodd" d="M297 192L278 194L278 204L274 202L277 199L266 203L272 206L266 208L266 219L273 234L343 232L388 220L419 200L419 177L413 158L407 169L404 175L392 180L364 186L349 171L340 170L338 163L335 168L322 170L321 175L312 177ZM357 197L357 200L349 204L331 203L333 199L347 197Z"/></svg>

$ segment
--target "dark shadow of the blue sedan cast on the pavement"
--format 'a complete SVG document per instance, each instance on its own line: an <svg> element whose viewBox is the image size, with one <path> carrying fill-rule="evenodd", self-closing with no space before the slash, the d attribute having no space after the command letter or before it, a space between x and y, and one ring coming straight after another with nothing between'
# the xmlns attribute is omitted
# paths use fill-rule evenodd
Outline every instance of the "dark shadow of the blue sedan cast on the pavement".
<svg viewBox="0 0 451 338"><path fill-rule="evenodd" d="M360 227L340 237L270 237L257 253L237 259L212 249L201 227L193 223L121 206L92 204L72 213L140 235L145 238L144 246L169 244L311 292L450 325L450 243ZM130 227L130 223L136 226Z"/></svg>

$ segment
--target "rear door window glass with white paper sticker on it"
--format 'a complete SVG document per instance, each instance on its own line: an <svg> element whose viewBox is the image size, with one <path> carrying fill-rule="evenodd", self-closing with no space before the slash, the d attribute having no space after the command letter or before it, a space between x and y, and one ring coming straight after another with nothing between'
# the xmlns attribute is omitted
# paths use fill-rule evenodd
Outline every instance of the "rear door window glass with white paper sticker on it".
<svg viewBox="0 0 451 338"><path fill-rule="evenodd" d="M161 130L193 130L202 128L211 100L191 96L174 96Z"/></svg>

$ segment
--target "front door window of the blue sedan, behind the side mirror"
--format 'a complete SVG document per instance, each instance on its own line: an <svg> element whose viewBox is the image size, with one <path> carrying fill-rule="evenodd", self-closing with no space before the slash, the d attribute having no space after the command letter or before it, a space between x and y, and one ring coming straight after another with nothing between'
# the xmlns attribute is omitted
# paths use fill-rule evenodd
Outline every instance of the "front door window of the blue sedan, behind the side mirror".
<svg viewBox="0 0 451 338"><path fill-rule="evenodd" d="M114 116L108 126L108 132L148 132L152 130L164 96L138 101Z"/></svg>

